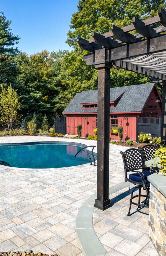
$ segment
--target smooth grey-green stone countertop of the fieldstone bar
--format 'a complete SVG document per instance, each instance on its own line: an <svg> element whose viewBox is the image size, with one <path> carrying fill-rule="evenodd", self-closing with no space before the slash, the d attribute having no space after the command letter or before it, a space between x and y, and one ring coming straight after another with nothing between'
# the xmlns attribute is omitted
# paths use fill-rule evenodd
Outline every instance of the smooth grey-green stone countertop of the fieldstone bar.
<svg viewBox="0 0 166 256"><path fill-rule="evenodd" d="M166 197L166 176L157 172L149 175L148 180L163 196Z"/></svg>

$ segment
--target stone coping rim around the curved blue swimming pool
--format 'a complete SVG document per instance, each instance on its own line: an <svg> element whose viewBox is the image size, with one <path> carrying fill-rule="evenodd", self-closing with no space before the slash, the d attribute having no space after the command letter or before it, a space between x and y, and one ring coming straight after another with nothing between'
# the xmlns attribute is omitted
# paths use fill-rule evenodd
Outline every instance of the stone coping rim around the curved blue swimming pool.
<svg viewBox="0 0 166 256"><path fill-rule="evenodd" d="M3 142L1 142L0 146L28 146L28 145L42 145L42 144L59 144L59 142L60 142L61 145L66 145L67 144L67 145L80 146L80 147L87 147L88 146L88 145L83 144L83 143L70 142L70 141L69 142L68 141L32 141L32 142L19 142L19 143L3 143ZM90 153L92 152L88 149L87 149L87 151L89 151ZM94 152L94 156L97 157L97 153ZM96 164L97 164L97 159L95 161L96 161ZM93 161L92 161L92 163L93 163ZM56 170L64 170L66 168L70 169L70 168L73 168L73 167L76 167L76 166L77 167L79 167L79 166L83 167L83 166L88 166L88 165L89 165L89 163L67 166L67 167L56 167L56 168L21 168L21 167L13 167L13 166L6 166L6 165L0 164L0 168L1 167L3 167L3 168L6 167L8 169L12 168L12 169L20 170L20 171L21 170L26 170L26 171L28 171L28 170L34 170L34 171L36 171L36 170L51 170L51 171L55 170L56 171ZM93 164L91 166L93 166Z"/></svg>

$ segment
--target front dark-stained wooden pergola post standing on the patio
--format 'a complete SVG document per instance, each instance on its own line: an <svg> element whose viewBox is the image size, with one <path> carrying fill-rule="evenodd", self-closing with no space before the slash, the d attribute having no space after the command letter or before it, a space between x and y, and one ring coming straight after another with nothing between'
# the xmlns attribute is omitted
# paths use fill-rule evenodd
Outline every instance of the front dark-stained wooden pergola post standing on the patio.
<svg viewBox="0 0 166 256"><path fill-rule="evenodd" d="M94 207L105 210L111 206L109 199L109 113L110 113L110 68L107 50L97 52L98 60L98 111L97 111L97 198ZM104 62L103 62L104 61ZM101 63L103 62L103 63Z"/></svg>

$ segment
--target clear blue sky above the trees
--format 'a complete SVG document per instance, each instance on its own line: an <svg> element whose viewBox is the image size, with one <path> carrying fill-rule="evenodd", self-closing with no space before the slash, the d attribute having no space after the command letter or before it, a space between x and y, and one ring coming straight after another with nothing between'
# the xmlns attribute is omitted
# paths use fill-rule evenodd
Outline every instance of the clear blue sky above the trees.
<svg viewBox="0 0 166 256"><path fill-rule="evenodd" d="M30 54L72 50L65 43L72 13L79 0L1 0L0 10L14 35L20 37L17 47Z"/></svg>

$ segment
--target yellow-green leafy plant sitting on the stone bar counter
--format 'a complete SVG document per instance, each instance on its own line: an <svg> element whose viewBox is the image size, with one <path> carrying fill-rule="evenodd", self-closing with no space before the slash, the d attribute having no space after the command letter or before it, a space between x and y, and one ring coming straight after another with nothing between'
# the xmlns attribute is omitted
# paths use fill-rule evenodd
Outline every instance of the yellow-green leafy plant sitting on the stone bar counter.
<svg viewBox="0 0 166 256"><path fill-rule="evenodd" d="M160 168L159 168L159 172L164 174L166 176L166 148L163 148L162 146L160 146L160 148L158 148L155 151L155 155L154 158L157 159L157 157L159 157L159 164L160 164ZM155 161L155 166L157 166L156 161Z"/></svg>

